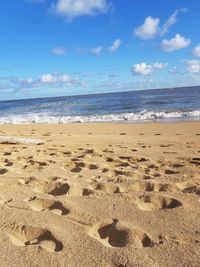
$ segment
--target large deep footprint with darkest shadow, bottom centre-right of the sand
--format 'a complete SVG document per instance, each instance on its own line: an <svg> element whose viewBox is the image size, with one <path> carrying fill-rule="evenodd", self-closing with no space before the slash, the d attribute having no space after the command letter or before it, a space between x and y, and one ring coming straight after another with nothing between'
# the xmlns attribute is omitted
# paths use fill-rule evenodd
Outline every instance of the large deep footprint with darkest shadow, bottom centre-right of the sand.
<svg viewBox="0 0 200 267"><path fill-rule="evenodd" d="M94 225L90 229L89 235L110 248L122 248L131 243L137 248L143 248L153 244L146 233L135 229L130 230L116 219L109 223Z"/></svg>

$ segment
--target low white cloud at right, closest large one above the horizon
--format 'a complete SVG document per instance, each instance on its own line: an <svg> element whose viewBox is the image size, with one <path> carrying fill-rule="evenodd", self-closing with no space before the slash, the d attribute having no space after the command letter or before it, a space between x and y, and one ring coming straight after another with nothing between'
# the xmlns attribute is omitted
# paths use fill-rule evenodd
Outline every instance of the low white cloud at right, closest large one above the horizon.
<svg viewBox="0 0 200 267"><path fill-rule="evenodd" d="M132 66L132 73L134 75L149 75L153 71L163 69L166 64L155 62L153 64L146 64L145 62L138 63Z"/></svg>

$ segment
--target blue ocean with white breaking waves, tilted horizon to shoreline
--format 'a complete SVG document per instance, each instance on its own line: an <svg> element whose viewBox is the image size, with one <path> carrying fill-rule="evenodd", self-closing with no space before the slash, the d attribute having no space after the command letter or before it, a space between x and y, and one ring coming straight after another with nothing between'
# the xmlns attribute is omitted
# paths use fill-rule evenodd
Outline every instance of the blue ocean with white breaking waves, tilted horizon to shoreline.
<svg viewBox="0 0 200 267"><path fill-rule="evenodd" d="M0 101L0 124L200 120L200 86Z"/></svg>

